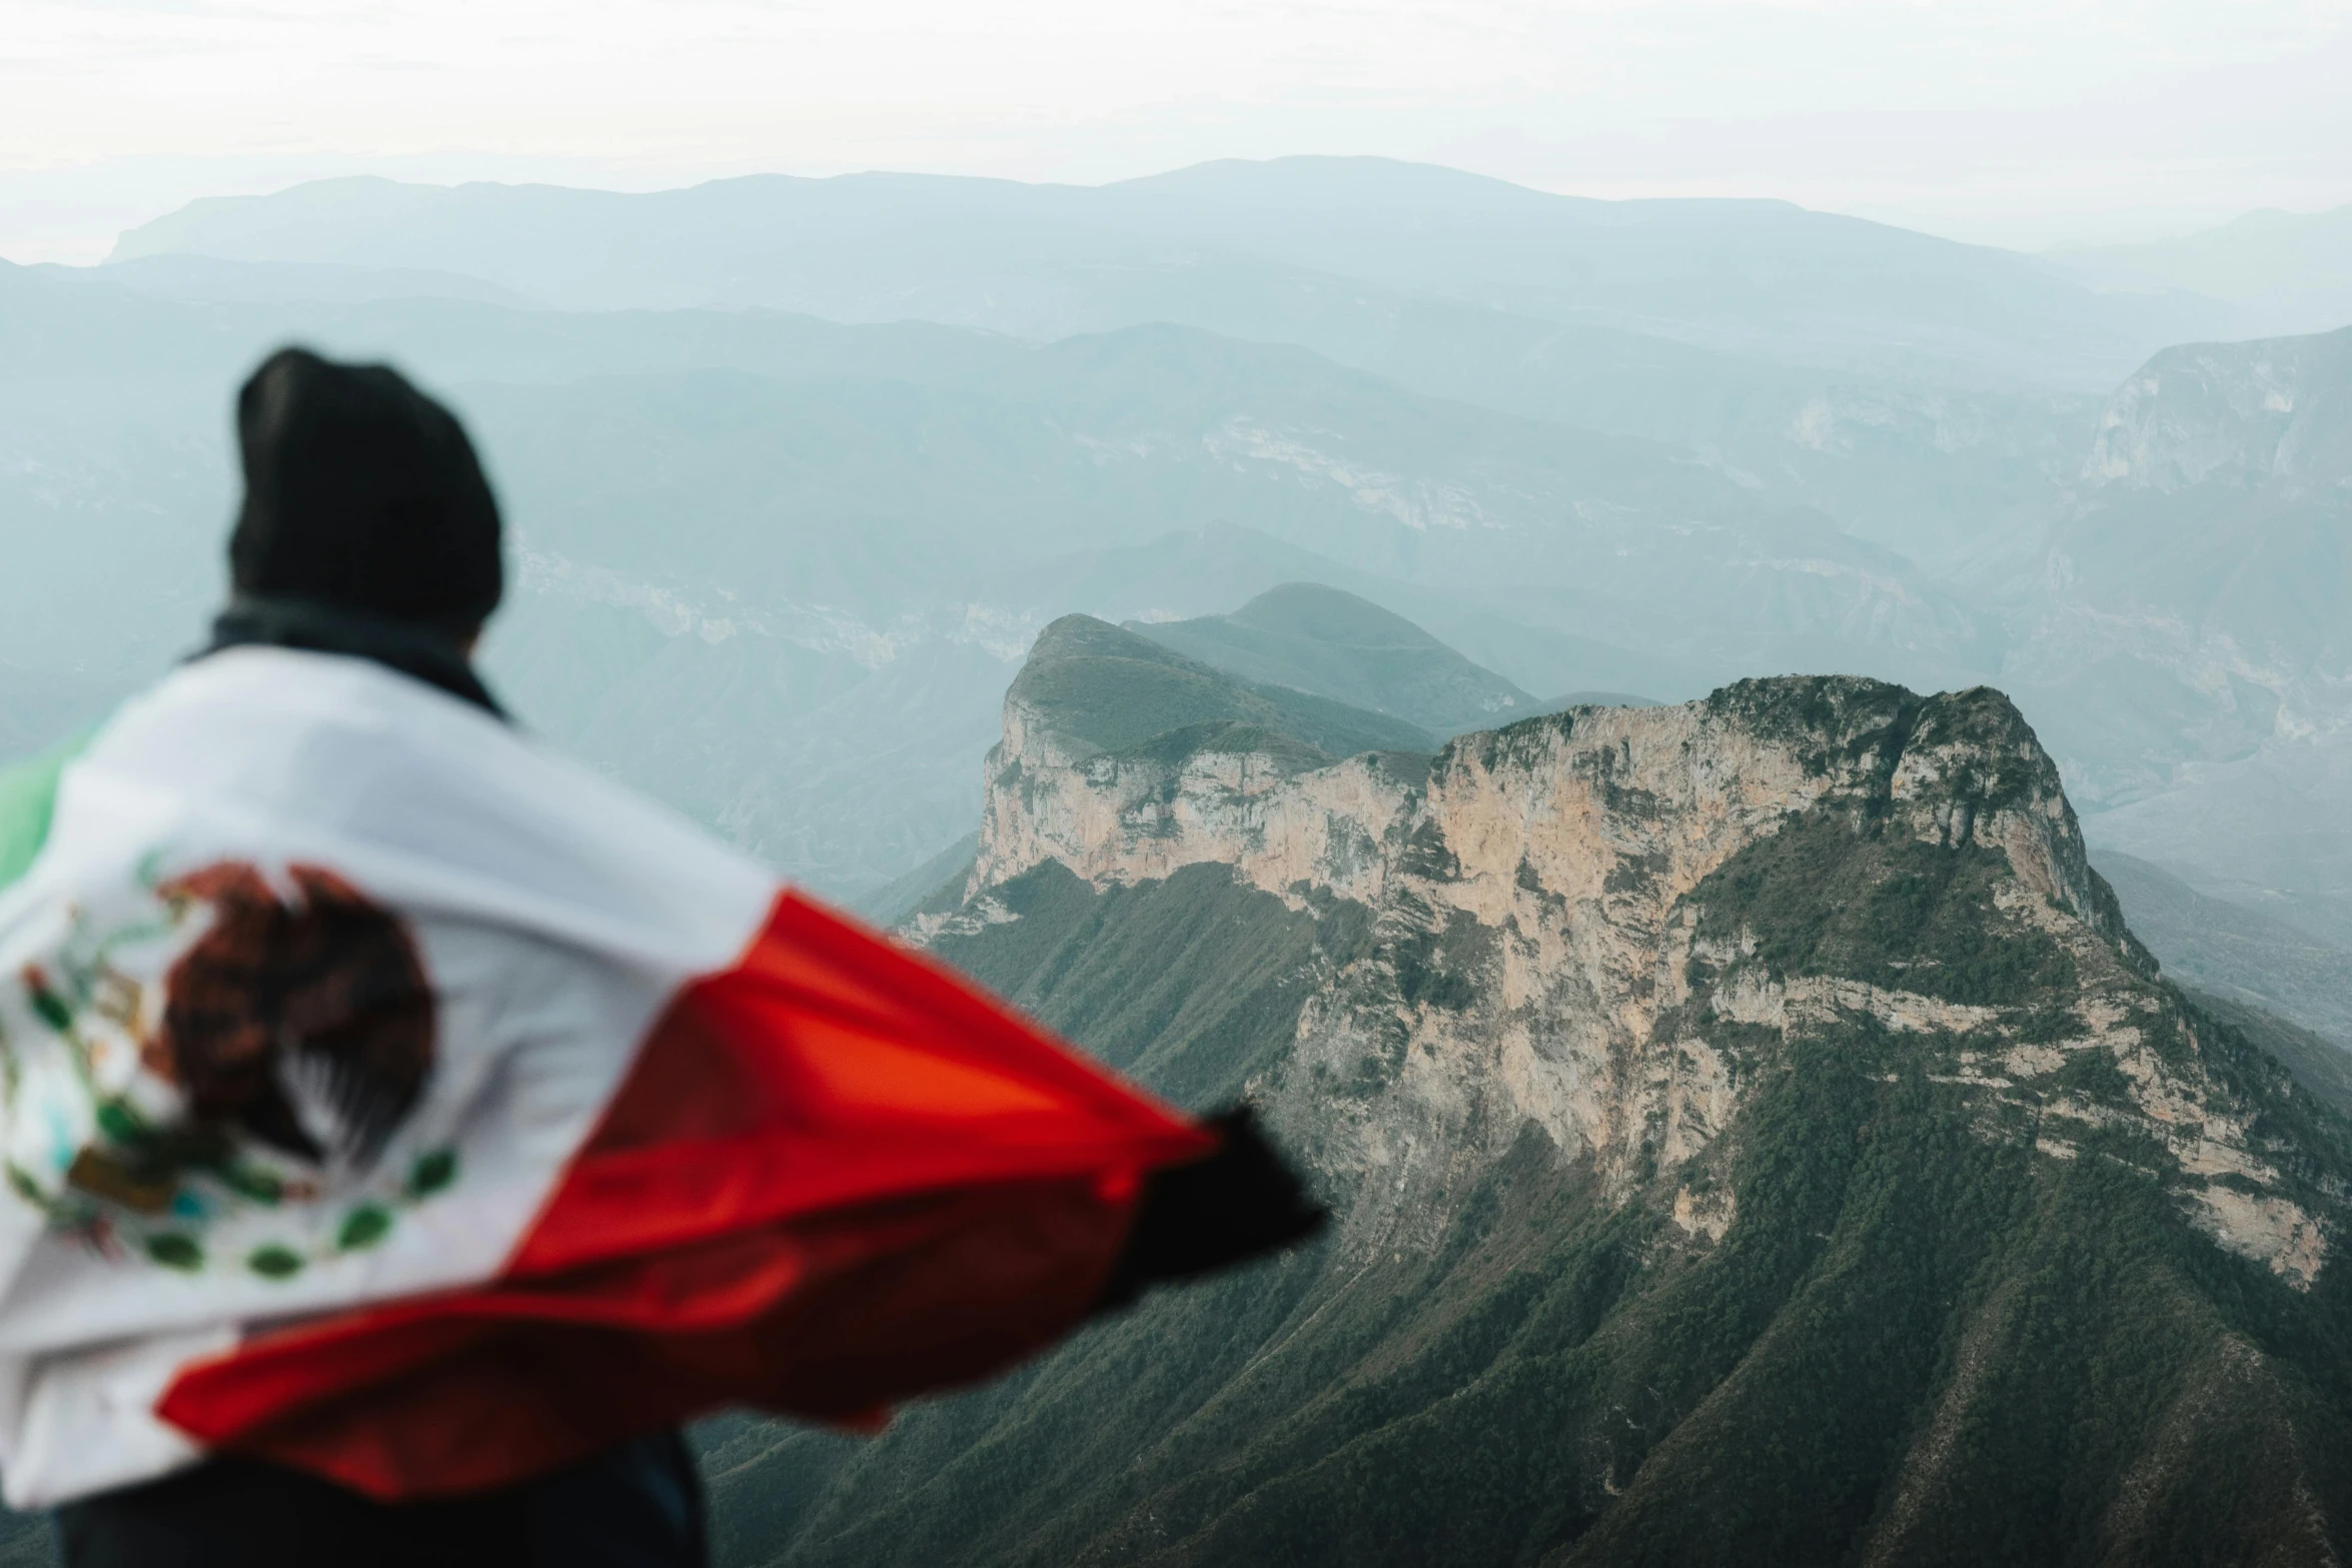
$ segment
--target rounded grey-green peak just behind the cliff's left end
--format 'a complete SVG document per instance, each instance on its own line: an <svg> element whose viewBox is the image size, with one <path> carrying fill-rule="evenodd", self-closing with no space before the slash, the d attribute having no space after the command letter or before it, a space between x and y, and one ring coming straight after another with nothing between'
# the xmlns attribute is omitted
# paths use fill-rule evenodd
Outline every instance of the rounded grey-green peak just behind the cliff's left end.
<svg viewBox="0 0 2352 1568"><path fill-rule="evenodd" d="M1541 708L1404 616L1322 583L1270 588L1228 616L1129 621L1127 630L1244 679L1388 712L1439 738Z"/></svg>

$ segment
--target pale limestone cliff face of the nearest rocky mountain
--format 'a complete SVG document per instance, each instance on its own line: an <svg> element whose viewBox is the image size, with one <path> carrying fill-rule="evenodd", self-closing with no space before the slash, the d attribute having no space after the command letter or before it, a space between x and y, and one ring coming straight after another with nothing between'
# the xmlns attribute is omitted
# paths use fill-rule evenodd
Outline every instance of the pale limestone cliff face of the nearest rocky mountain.
<svg viewBox="0 0 2352 1568"><path fill-rule="evenodd" d="M1312 978L1294 1048L1254 1088L1348 1194L1343 1246L1435 1244L1454 1194L1529 1131L1604 1201L1656 1204L1708 1246L1736 1220L1710 1171L1752 1086L1792 1041L1879 1030L2042 1159L2129 1124L2225 1246L2298 1286L2326 1258L2310 1194L2204 1067L1994 691L1743 682L1463 736L1428 762L1331 762L1242 724L1110 752L1016 689L988 769L948 917L964 929L1007 917L993 889L1042 863L1096 889L1214 863L1294 910L1369 912L1371 940ZM1769 870L1783 839L1783 860L1828 849L1802 877ZM1980 891L1943 947L1879 940L1846 907L1955 865ZM1844 893L1816 886L1837 877ZM1799 929L1846 936L1797 952Z"/></svg>

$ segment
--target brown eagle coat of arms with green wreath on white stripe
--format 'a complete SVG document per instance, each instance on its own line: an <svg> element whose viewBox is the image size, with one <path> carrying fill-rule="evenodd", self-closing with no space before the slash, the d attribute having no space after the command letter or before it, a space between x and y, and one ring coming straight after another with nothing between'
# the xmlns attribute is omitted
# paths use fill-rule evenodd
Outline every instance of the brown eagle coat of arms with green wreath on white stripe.
<svg viewBox="0 0 2352 1568"><path fill-rule="evenodd" d="M87 1098L87 1121L47 1105L52 1128L82 1121L85 1138L52 1138L47 1173L9 1161L7 1180L101 1251L200 1269L198 1232L223 1204L303 1201L329 1161L376 1161L433 1072L435 997L407 922L322 865L273 882L216 860L139 882L136 917L101 929L75 910L52 961L19 973L71 1067L47 1088ZM14 1110L24 1063L7 1048L0 1067ZM428 1154L388 1199L419 1201L454 1173L452 1152ZM334 1244L372 1246L390 1225L393 1206L365 1201ZM282 1279L303 1251L268 1244L247 1265Z"/></svg>

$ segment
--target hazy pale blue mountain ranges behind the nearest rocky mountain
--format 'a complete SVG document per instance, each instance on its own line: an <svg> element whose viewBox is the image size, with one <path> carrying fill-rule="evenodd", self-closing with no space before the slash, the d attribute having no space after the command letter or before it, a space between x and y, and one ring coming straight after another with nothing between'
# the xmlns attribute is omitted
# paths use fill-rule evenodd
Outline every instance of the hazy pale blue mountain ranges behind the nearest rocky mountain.
<svg viewBox="0 0 2352 1568"><path fill-rule="evenodd" d="M630 301L724 308L553 308ZM2352 943L2343 336L2176 308L1381 160L195 205L0 266L0 748L198 639L226 388L303 339L482 433L517 708L828 891L960 837L1051 618L1324 583L1543 701L1994 682L2096 842Z"/></svg>

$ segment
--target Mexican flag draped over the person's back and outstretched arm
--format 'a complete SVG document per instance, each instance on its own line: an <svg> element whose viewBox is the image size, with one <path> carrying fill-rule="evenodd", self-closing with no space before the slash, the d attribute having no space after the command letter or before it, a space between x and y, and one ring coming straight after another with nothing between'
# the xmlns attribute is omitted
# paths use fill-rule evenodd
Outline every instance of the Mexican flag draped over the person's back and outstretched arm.
<svg viewBox="0 0 2352 1568"><path fill-rule="evenodd" d="M0 1479L376 1497L1070 1328L1209 1135L496 717L183 665L0 783Z"/></svg>

